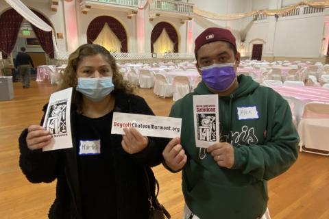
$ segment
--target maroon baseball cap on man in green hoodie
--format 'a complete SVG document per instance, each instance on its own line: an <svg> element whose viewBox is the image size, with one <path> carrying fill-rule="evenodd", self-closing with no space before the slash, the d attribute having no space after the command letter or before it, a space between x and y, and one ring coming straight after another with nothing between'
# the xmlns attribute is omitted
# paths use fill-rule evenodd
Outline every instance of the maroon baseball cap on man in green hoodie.
<svg viewBox="0 0 329 219"><path fill-rule="evenodd" d="M225 41L229 42L236 49L235 37L232 32L228 29L223 29L219 27L210 27L205 29L196 39L195 39L195 57L197 57L197 51L204 44L215 41Z"/></svg>

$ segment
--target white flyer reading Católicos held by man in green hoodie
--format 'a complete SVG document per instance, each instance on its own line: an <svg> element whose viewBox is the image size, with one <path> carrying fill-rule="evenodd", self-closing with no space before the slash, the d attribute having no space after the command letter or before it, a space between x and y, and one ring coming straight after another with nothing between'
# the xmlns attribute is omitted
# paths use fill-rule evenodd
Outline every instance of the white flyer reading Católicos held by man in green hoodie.
<svg viewBox="0 0 329 219"><path fill-rule="evenodd" d="M195 145L208 148L219 142L218 95L193 96Z"/></svg>

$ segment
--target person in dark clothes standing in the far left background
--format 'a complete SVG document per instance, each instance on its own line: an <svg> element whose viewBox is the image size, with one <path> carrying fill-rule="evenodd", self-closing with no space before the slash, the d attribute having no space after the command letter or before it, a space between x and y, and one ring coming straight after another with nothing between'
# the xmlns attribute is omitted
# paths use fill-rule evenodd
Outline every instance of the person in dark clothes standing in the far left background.
<svg viewBox="0 0 329 219"><path fill-rule="evenodd" d="M31 57L25 53L25 47L21 47L21 52L16 55L16 65L19 75L21 75L21 81L23 88L29 88L29 80L31 77L31 66L34 68Z"/></svg>

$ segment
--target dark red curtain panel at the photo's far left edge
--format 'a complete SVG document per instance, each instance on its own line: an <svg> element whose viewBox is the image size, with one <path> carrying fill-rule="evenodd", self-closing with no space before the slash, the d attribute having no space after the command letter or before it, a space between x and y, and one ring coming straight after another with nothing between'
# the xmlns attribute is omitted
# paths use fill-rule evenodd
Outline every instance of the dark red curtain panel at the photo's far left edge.
<svg viewBox="0 0 329 219"><path fill-rule="evenodd" d="M22 21L23 16L14 9L10 9L0 16L0 51L5 59L14 49Z"/></svg>

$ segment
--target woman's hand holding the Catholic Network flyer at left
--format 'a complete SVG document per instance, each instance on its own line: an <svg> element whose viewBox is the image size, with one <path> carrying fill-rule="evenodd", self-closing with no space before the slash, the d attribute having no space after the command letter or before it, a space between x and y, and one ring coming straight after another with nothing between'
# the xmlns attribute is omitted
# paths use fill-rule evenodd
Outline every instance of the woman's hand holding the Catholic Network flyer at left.
<svg viewBox="0 0 329 219"><path fill-rule="evenodd" d="M51 134L40 125L30 125L26 136L27 147L30 150L42 149L50 143Z"/></svg>

